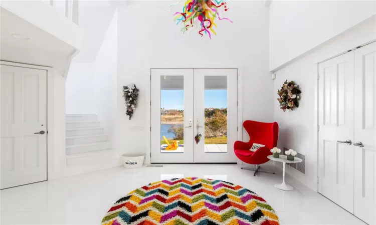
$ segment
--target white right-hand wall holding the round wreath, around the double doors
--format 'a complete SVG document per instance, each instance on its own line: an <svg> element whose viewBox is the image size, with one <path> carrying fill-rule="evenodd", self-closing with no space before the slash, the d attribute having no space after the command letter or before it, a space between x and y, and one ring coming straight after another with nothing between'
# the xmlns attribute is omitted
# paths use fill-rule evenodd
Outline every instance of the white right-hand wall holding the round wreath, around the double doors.
<svg viewBox="0 0 376 225"><path fill-rule="evenodd" d="M325 43L303 58L276 71L273 102L274 120L279 124L278 146L293 148L306 154L306 176L287 166L287 172L316 190L317 149L315 148L315 95L317 88L317 62L376 39L376 18L373 16L351 28L345 34ZM294 80L302 91L299 108L283 112L276 100L276 91L286 80Z"/></svg>

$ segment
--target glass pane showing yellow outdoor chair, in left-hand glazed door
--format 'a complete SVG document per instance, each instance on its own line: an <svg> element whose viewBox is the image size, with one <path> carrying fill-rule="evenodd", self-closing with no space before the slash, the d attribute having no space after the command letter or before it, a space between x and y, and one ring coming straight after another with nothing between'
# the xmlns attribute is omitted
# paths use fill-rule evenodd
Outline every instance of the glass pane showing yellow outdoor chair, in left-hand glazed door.
<svg viewBox="0 0 376 225"><path fill-rule="evenodd" d="M160 152L184 152L184 76L160 76Z"/></svg>

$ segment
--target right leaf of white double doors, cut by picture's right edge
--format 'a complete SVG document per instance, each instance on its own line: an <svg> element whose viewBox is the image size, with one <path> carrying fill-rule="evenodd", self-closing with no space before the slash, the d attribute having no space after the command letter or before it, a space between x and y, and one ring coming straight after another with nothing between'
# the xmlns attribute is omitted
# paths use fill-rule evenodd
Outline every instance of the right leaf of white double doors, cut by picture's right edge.
<svg viewBox="0 0 376 225"><path fill-rule="evenodd" d="M376 43L355 50L354 214L376 224ZM359 143L361 142L361 144Z"/></svg>

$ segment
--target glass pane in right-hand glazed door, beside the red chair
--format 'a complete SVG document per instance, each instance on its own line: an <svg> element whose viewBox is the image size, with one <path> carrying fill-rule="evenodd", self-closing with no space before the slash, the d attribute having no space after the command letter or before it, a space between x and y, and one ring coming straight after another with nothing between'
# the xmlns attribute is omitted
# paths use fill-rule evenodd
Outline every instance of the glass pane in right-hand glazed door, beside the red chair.
<svg viewBox="0 0 376 225"><path fill-rule="evenodd" d="M227 76L205 76L205 152L227 152Z"/></svg>

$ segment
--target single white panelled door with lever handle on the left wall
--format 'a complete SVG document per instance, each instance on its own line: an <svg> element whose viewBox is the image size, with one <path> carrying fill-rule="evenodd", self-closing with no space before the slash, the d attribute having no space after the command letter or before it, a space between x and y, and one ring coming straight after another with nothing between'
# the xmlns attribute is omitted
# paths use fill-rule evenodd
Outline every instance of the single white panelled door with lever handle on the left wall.
<svg viewBox="0 0 376 225"><path fill-rule="evenodd" d="M47 71L1 65L1 188L47 180Z"/></svg>

